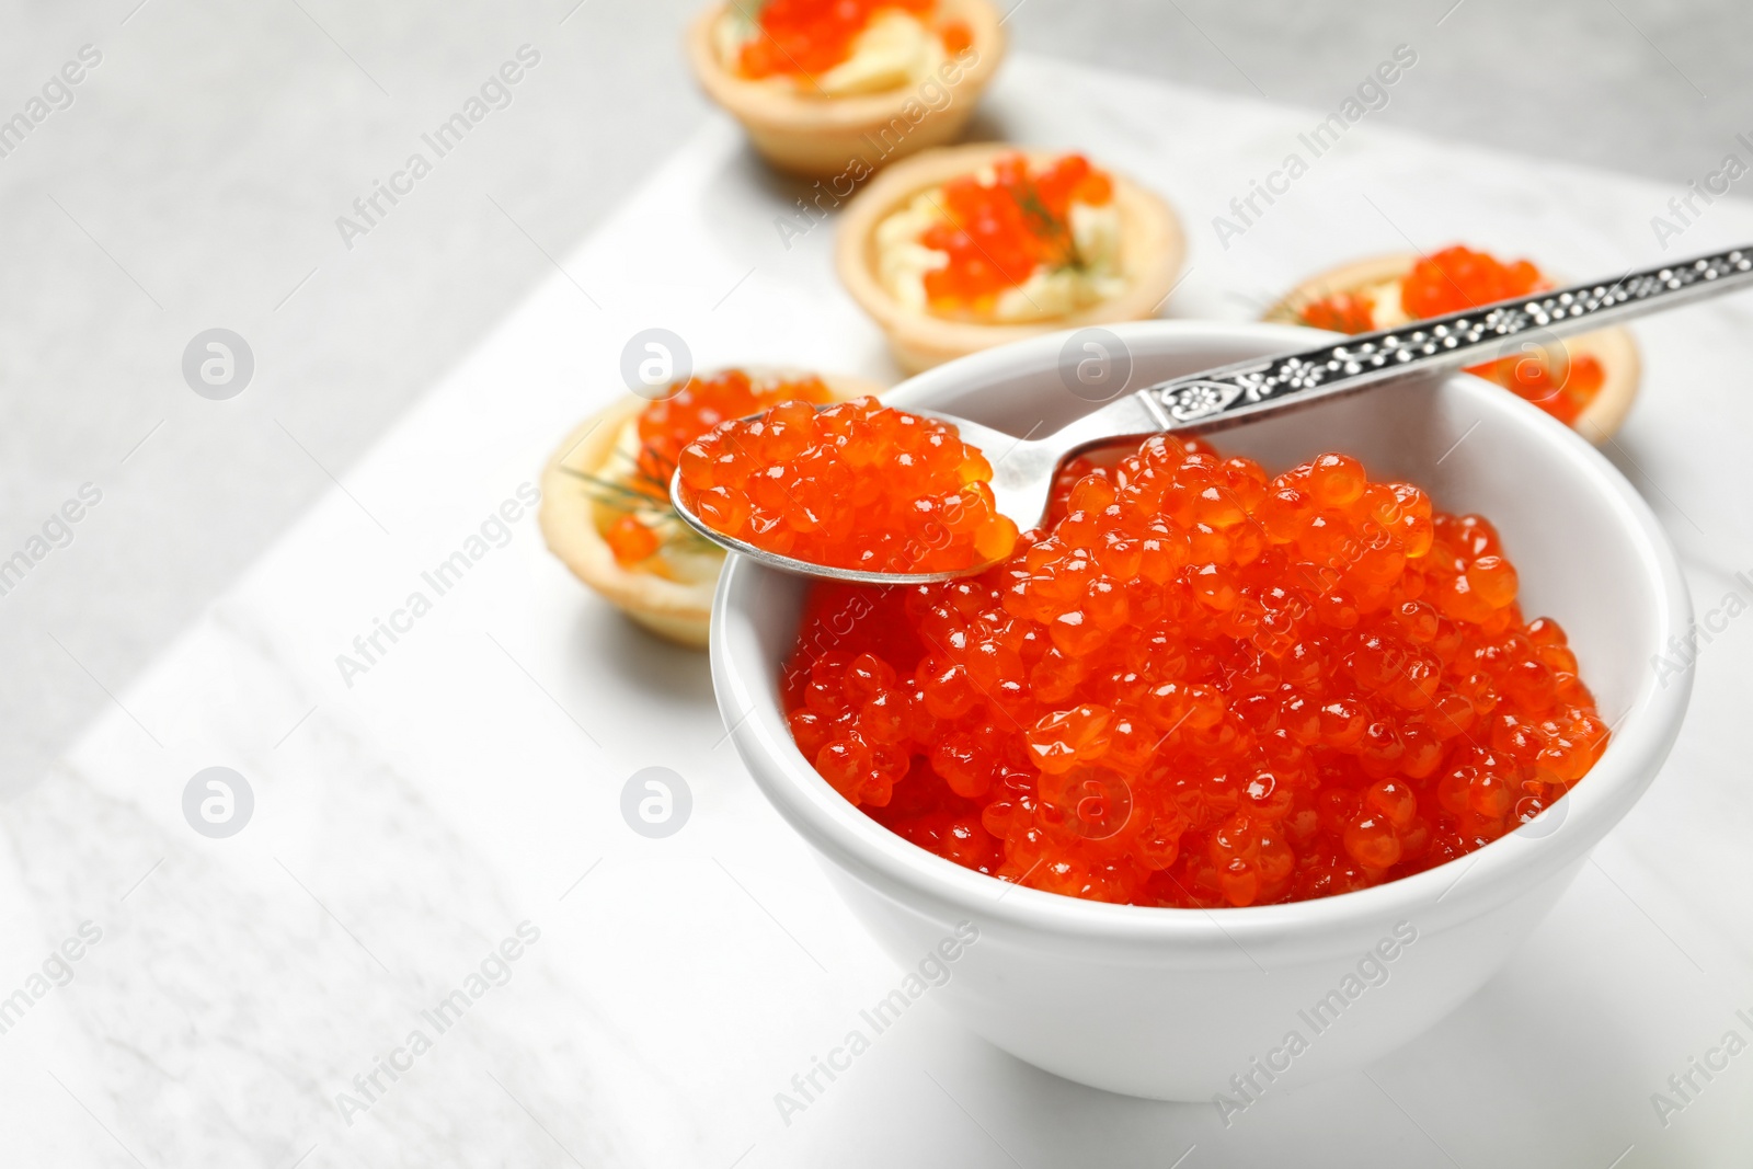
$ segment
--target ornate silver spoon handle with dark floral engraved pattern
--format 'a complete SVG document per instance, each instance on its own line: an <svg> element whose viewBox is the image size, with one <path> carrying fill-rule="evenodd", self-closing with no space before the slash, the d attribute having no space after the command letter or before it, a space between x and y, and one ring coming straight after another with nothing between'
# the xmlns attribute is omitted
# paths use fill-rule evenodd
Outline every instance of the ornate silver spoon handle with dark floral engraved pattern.
<svg viewBox="0 0 1753 1169"><path fill-rule="evenodd" d="M1299 396L1317 401L1390 379L1480 365L1541 340L1718 296L1753 284L1753 245L1683 259L1618 280L1501 300L1397 329L1360 333L1295 354L1241 361L1138 391L1162 429L1225 424Z"/></svg>

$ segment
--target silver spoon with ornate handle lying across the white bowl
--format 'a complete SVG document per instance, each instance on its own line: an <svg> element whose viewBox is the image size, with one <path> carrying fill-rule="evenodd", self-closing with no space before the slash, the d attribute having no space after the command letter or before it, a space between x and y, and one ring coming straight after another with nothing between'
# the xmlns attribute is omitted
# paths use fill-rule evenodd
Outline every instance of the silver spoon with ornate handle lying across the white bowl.
<svg viewBox="0 0 1753 1169"><path fill-rule="evenodd" d="M1397 329L1359 333L1313 349L1253 358L1203 373L1175 377L1125 394L1103 408L1061 428L1047 438L1018 442L978 422L920 410L961 433L980 450L1006 450L992 468L997 510L1027 531L1041 522L1061 464L1090 447L1120 438L1182 429L1218 429L1260 414L1294 410L1367 386L1401 382L1439 370L1455 370L1508 356L1516 338L1585 333L1606 324L1643 317L1706 296L1720 296L1753 284L1753 245L1711 252L1672 265L1627 272L1616 280L1501 300L1494 305L1413 321ZM971 577L990 568L980 564L941 573L873 573L812 564L766 552L743 540L713 531L682 499L680 473L670 480L670 503L694 531L713 543L747 556L768 568L873 585L908 585Z"/></svg>

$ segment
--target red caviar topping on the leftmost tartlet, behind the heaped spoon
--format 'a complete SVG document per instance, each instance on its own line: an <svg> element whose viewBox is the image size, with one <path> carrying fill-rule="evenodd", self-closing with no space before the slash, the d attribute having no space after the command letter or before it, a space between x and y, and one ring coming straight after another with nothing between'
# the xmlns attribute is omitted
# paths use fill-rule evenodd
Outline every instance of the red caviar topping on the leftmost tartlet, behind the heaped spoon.
<svg viewBox="0 0 1753 1169"><path fill-rule="evenodd" d="M633 512L670 507L670 478L682 447L719 422L756 414L778 401L833 401L833 393L813 373L750 377L743 370L724 370L691 377L666 398L640 410L635 473L624 484L605 485L601 492L610 508L622 512L603 529L603 542L615 563L631 568L650 559L663 545L663 536Z"/></svg>

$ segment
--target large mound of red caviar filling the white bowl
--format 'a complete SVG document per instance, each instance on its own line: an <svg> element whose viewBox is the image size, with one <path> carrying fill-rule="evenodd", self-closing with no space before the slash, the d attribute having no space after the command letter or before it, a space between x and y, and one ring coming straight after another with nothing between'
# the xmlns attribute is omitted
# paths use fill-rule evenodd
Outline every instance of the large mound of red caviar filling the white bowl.
<svg viewBox="0 0 1753 1169"><path fill-rule="evenodd" d="M847 799L1050 892L1248 906L1513 831L1608 743L1490 522L1343 454L1278 477L1155 436L980 577L817 584L782 694Z"/></svg>

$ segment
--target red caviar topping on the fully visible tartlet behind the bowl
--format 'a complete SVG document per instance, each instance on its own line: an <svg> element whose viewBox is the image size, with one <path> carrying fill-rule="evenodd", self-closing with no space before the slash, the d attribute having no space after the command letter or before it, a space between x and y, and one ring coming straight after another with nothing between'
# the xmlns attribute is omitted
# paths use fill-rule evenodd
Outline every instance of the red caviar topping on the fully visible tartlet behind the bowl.
<svg viewBox="0 0 1753 1169"><path fill-rule="evenodd" d="M1018 152L992 161L992 182L962 175L943 184L945 221L920 244L947 252L948 263L926 273L936 312L990 312L999 293L1017 287L1040 266L1082 263L1071 235L1071 203L1103 207L1113 181L1082 154L1031 168Z"/></svg>

